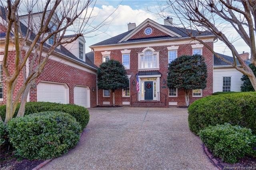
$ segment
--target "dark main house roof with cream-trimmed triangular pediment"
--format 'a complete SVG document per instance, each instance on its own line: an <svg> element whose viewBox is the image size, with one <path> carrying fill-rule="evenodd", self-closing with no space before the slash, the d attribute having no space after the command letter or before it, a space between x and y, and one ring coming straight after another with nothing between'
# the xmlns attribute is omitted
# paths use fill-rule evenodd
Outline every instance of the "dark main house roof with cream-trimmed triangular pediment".
<svg viewBox="0 0 256 170"><path fill-rule="evenodd" d="M132 37L132 35L137 33L141 28L143 28L148 23L150 23L150 25L152 24L152 26L156 27L157 29L159 28L159 29L163 30L165 33L168 33L168 36L129 39L130 37ZM104 41L101 41L99 43L93 44L90 47L104 46L104 45L115 45L115 44L121 44L121 43L143 42L143 41L190 38L187 34L187 31L192 31L192 34L197 37L207 37L207 36L214 37L214 34L212 34L210 31L196 31L196 30L179 28L179 27L174 27L174 26L161 25L159 23L156 23L155 21L146 19L140 25L138 25L136 28L134 28L130 31L121 33L119 35L116 35L114 37L111 37L109 39L106 39Z"/></svg>

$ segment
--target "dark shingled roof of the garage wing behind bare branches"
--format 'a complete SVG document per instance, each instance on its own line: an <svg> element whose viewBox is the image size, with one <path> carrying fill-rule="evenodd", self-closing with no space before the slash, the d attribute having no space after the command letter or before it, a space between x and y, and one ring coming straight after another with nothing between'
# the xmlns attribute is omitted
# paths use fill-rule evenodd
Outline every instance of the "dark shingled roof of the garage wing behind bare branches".
<svg viewBox="0 0 256 170"><path fill-rule="evenodd" d="M4 20L6 20L6 10L4 7L0 6L0 17L2 17ZM23 36L26 36L26 32L28 30L28 27L26 27L26 25L24 25L21 21L20 21L20 28L21 28L21 33ZM11 35L13 36L13 34L11 33ZM36 34L35 33L31 33L29 39L33 41L33 39L35 38ZM67 35L69 36L69 35ZM0 38L5 38L6 37L6 33L0 33ZM44 47L46 48L50 48L50 45L47 43L44 43ZM67 56L81 64L84 64L85 66L90 66L91 68L96 69L96 65L94 65L94 62L91 61L91 59L89 59L89 61L82 61L80 59L78 59L78 57L76 57L75 55L73 55L70 51L68 51L68 49L66 49L63 45L60 45L60 48L56 48L54 49L54 52L59 53L61 55ZM87 58L86 58L87 59Z"/></svg>

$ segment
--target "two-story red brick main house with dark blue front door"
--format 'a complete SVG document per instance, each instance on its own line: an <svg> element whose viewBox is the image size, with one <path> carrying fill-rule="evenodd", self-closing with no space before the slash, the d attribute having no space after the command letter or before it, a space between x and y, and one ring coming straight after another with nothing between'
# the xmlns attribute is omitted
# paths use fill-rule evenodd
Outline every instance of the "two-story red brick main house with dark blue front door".
<svg viewBox="0 0 256 170"><path fill-rule="evenodd" d="M190 103L213 92L213 55L209 49L186 34L186 29L172 26L172 18L161 25L147 19L136 27L128 24L128 31L91 45L94 64L99 66L110 59L118 60L126 68L130 85L115 91L116 105L138 107L185 106L183 89L168 88L168 64L181 55L201 54L207 64L205 89L190 90ZM193 31L213 48L215 36L208 32ZM136 90L136 75L140 90ZM98 90L98 105L112 105L112 92Z"/></svg>

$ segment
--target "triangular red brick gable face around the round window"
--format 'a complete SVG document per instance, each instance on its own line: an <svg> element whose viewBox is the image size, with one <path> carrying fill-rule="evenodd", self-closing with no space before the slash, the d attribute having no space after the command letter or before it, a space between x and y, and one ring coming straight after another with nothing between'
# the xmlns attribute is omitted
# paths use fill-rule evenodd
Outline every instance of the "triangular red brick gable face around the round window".
<svg viewBox="0 0 256 170"><path fill-rule="evenodd" d="M152 33L150 35L146 35L144 33L144 29L146 27L151 27L152 28ZM138 31L136 34L132 35L132 37L130 37L130 39L137 39L137 38L148 38L148 37L161 37L161 36L169 36L168 34L164 33L163 31L160 31L159 29L156 29L155 27L153 27L152 25L146 25L145 27L143 27L140 31Z"/></svg>

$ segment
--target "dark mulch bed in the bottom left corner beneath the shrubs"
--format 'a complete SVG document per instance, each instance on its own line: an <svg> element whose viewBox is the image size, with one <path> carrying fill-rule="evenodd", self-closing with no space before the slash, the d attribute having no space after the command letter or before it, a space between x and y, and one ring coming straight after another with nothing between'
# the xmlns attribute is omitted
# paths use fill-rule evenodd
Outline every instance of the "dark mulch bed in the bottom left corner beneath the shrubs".
<svg viewBox="0 0 256 170"><path fill-rule="evenodd" d="M32 170L44 160L28 160L16 158L13 153L13 148L8 150L8 147L0 149L1 170Z"/></svg>

